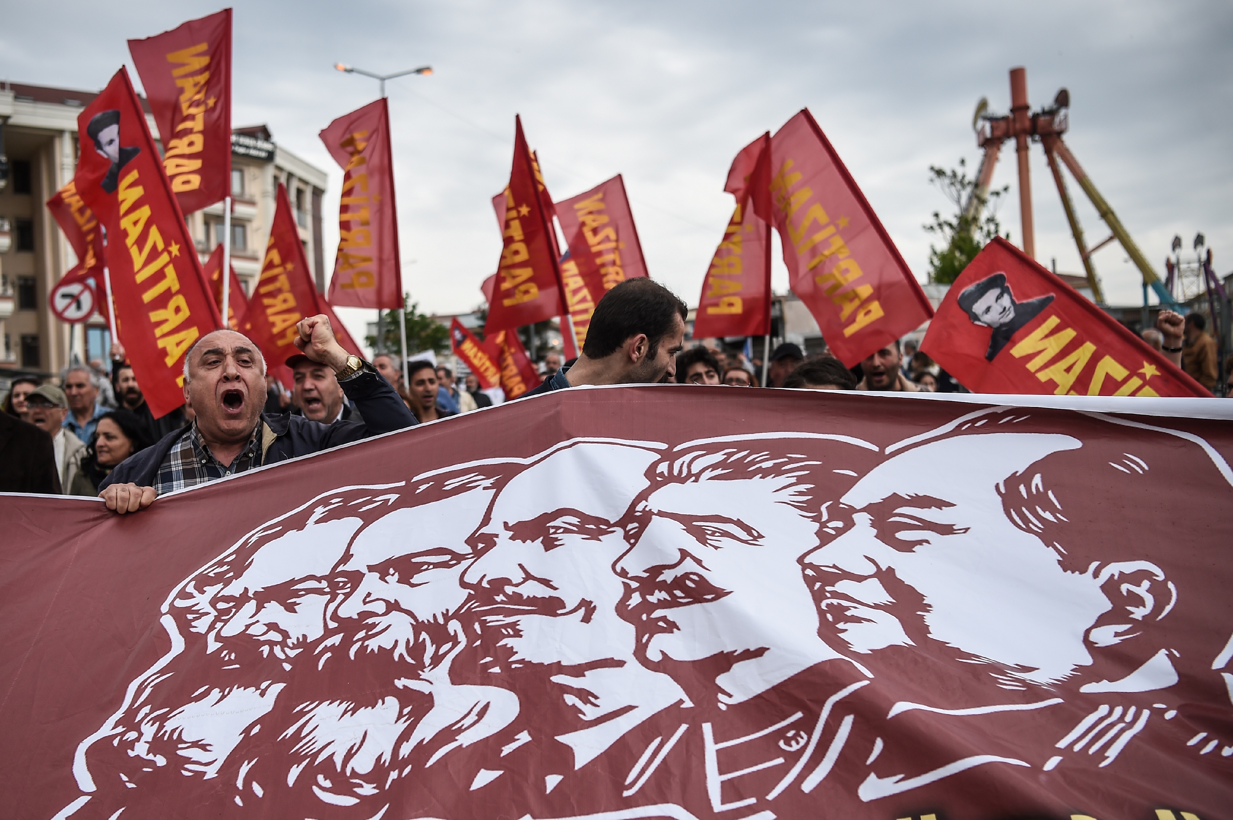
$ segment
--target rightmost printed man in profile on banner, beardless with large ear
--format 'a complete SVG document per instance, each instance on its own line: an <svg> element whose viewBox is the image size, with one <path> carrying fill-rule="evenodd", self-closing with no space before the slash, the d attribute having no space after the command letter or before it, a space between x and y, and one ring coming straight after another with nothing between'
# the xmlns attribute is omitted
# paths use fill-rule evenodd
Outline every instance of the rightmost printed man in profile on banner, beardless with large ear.
<svg viewBox="0 0 1233 820"><path fill-rule="evenodd" d="M1233 607L1202 568L1228 465L1190 433L1038 415L979 410L888 447L804 559L824 639L890 704L857 714L837 756L853 805L1218 816ZM1110 421L1149 432L1128 443Z"/></svg>

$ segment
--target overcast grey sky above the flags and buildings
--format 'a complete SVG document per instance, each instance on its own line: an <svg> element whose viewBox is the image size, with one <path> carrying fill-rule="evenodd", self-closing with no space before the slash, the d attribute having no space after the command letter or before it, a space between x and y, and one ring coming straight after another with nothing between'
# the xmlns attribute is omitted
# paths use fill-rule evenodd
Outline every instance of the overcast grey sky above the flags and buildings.
<svg viewBox="0 0 1233 820"><path fill-rule="evenodd" d="M0 75L96 90L125 41L218 10L208 2L120 6L10 2ZM101 10L106 10L100 14ZM327 267L342 172L317 133L377 96L332 66L432 76L388 84L403 281L420 309L466 312L496 270L490 198L509 176L514 113L551 195L624 174L651 276L695 304L730 215L734 154L809 107L917 278L948 203L928 166L979 161L977 100L1010 107L1007 71L1027 68L1033 108L1070 90L1067 142L1147 257L1203 231L1233 271L1233 5L1212 2L252 2L236 9L237 126L329 171ZM138 81L136 74L134 82ZM1012 145L994 177L1020 241ZM1038 145L1032 151L1037 259L1083 268ZM1089 244L1108 231L1079 202ZM936 240L935 240L936 241ZM1115 244L1094 257L1113 304L1141 302ZM787 288L776 260L774 287ZM356 312L361 313L361 312ZM363 316L349 315L348 324Z"/></svg>

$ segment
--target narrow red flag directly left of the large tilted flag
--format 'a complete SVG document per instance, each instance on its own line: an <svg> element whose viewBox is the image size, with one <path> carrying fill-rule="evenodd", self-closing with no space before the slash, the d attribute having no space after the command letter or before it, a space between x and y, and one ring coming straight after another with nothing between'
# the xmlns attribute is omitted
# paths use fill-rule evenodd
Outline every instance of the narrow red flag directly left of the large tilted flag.
<svg viewBox="0 0 1233 820"><path fill-rule="evenodd" d="M755 213L748 186L756 169L766 175L769 143L763 134L746 145L727 172L725 190L736 197L736 211L702 283L695 339L771 332L771 225Z"/></svg>

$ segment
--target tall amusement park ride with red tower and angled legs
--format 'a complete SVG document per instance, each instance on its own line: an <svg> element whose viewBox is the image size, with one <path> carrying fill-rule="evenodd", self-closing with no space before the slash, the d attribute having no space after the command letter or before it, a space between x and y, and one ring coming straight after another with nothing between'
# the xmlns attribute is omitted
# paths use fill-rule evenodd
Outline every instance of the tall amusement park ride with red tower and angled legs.
<svg viewBox="0 0 1233 820"><path fill-rule="evenodd" d="M1079 247L1079 259L1083 260L1084 271L1088 275L1088 283L1091 287L1091 293L1096 303L1104 304L1105 297L1100 288L1100 281L1096 278L1096 266L1092 262L1091 256L1097 250L1116 239L1122 244L1122 247L1126 249L1126 252L1134 262L1134 266L1139 268L1139 272L1143 275L1144 304L1147 304L1147 289L1152 288L1155 292L1157 298L1159 298L1161 305L1176 308L1178 300L1160 281L1160 277L1157 276L1155 271L1152 270L1152 266L1148 265L1147 257L1143 256L1143 251L1141 251L1138 245L1134 244L1134 240L1122 225L1117 214L1113 213L1113 209L1105 201L1105 197L1102 197L1100 191L1096 190L1091 177L1084 172L1079 161L1075 160L1074 154L1070 153L1070 149L1062 139L1062 134L1065 133L1067 126L1069 124L1069 107L1070 92L1062 89L1053 98L1052 106L1032 112L1027 103L1027 71L1022 68L1010 70L1009 115L990 115L989 102L985 98L981 98L980 102L977 103L977 113L973 117L972 124L977 131L977 144L984 150L984 155L980 159L980 167L977 171L975 188L964 207L965 215L974 218L984 207L989 196L989 182L993 180L994 167L997 165L997 155L1001 153L1002 143L1007 139L1014 139L1015 150L1018 155L1018 203L1020 214L1022 215L1023 252L1032 257L1036 256L1036 235L1032 225L1032 185L1028 169L1028 143L1030 140L1038 140L1044 148L1044 159L1049 164L1049 170L1053 171L1053 181L1058 186L1058 196L1062 197L1062 207L1067 212L1067 220L1070 223L1070 233L1074 234L1075 245ZM1096 243L1091 247L1088 247L1086 240L1084 239L1083 227L1079 224L1079 215L1075 213L1074 203L1070 201L1070 193L1067 191L1067 182L1063 179L1062 169L1058 165L1059 159L1068 169L1070 169L1070 174L1075 177L1075 181L1079 182L1079 187L1081 187L1084 193L1088 195L1088 198L1091 199L1091 203L1095 206L1100 218L1105 220L1105 224L1107 224L1112 231L1107 239Z"/></svg>

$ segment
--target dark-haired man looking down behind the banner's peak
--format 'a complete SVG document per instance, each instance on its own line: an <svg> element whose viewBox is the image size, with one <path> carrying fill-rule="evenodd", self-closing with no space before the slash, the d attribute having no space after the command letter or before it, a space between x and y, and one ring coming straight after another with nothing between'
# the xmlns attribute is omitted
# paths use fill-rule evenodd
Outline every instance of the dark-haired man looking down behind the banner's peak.
<svg viewBox="0 0 1233 820"><path fill-rule="evenodd" d="M522 396L583 384L653 384L676 376L689 309L658 282L625 279L596 305L582 356Z"/></svg>

